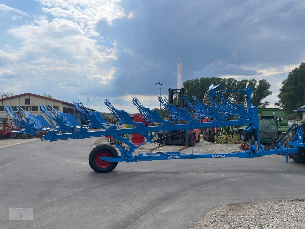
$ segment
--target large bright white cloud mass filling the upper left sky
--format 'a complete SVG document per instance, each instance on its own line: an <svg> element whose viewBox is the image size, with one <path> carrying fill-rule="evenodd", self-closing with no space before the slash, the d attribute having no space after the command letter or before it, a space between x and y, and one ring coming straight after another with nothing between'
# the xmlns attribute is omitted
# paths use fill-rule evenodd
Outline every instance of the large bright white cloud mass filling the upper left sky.
<svg viewBox="0 0 305 229"><path fill-rule="evenodd" d="M124 10L116 1L44 1L41 11L46 15L35 17L31 23L11 27L9 35L23 40L16 51L0 50L0 67L14 63L16 71L31 75L45 75L57 81L59 89L76 87L61 82L58 73L74 74L81 81L84 74L92 75L100 84L113 78L115 68L107 65L109 73L100 75L101 66L109 60L117 60L117 42L101 45L96 24L105 20L109 25L116 18L125 17ZM3 8L3 5L1 5ZM13 10L5 8L6 10ZM25 14L23 14L25 15ZM131 53L126 48L126 52ZM9 69L9 68L8 68ZM106 70L105 66L102 72Z"/></svg>

